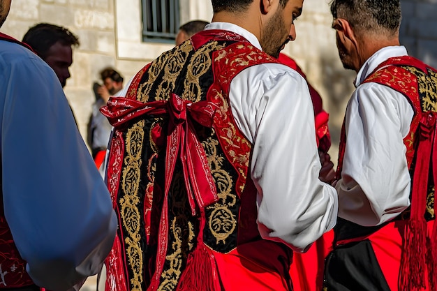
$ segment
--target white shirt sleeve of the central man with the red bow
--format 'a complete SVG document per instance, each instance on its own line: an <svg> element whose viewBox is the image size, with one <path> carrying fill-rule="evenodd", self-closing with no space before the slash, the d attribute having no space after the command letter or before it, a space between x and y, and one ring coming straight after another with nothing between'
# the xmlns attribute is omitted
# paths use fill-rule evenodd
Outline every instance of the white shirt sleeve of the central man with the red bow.
<svg viewBox="0 0 437 291"><path fill-rule="evenodd" d="M337 195L318 179L314 114L305 80L279 64L247 68L230 84L237 126L253 143L258 229L306 251L336 222Z"/></svg>

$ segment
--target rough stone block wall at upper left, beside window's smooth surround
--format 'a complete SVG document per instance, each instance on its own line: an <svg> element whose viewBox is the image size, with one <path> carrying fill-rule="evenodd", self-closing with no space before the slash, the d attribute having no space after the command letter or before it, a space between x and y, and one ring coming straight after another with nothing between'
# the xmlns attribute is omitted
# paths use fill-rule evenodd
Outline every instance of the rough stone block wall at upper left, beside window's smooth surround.
<svg viewBox="0 0 437 291"><path fill-rule="evenodd" d="M112 0L14 0L1 31L21 40L27 29L39 22L61 25L79 37L80 47L73 52L71 78L64 89L80 132L86 136L94 102L91 88L94 81L100 81L98 71L105 66L119 66L114 3Z"/></svg>

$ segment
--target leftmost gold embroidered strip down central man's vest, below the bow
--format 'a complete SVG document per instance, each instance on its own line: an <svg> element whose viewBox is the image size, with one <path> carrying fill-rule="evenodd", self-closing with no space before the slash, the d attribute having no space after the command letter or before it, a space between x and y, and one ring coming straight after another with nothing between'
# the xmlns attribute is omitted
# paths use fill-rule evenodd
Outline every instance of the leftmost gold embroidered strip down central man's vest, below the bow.
<svg viewBox="0 0 437 291"><path fill-rule="evenodd" d="M130 280L132 291L140 291L142 283L142 248L140 244L140 210L137 204L140 185L140 167L142 142L144 141L145 121L139 121L126 134L126 157L121 177L123 197L119 200L121 206L121 223L128 236L125 238L126 256L133 276Z"/></svg>

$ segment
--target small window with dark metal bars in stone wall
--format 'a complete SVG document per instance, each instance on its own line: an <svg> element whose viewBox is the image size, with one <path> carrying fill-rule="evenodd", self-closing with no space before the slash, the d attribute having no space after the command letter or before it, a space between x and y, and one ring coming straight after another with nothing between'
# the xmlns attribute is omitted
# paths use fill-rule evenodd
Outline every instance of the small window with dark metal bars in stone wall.
<svg viewBox="0 0 437 291"><path fill-rule="evenodd" d="M142 39L172 43L179 31L179 0L141 0Z"/></svg>

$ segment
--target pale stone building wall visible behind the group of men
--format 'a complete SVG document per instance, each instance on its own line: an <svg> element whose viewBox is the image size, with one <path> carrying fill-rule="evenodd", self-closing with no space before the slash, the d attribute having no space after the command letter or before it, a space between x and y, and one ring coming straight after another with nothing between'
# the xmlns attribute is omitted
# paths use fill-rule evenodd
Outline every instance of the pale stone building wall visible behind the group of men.
<svg viewBox="0 0 437 291"><path fill-rule="evenodd" d="M352 93L355 72L343 69L331 28L330 0L305 0L304 13L296 22L297 40L284 52L297 60L309 82L323 97L330 114L332 156L348 97ZM437 66L437 0L401 0L403 24L401 43L410 54ZM71 79L66 96L80 125L82 135L94 102L93 82L98 72L114 66L126 82L147 62L172 44L142 43L140 0L14 0L8 20L1 31L21 39L38 22L59 24L80 38L74 52ZM207 0L181 0L181 20L211 20L212 7Z"/></svg>

